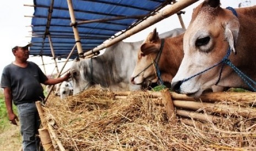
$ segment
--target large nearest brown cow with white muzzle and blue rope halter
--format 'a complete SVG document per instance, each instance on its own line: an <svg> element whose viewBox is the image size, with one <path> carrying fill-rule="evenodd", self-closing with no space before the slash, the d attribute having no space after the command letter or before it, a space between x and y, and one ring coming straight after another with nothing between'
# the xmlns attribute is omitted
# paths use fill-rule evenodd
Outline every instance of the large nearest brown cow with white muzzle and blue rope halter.
<svg viewBox="0 0 256 151"><path fill-rule="evenodd" d="M255 86L248 86L234 66L227 65L232 63L256 80L255 31L256 5L223 9L217 0L201 3L184 33L184 58L172 79L172 89L190 96L200 96L214 84L254 90ZM230 61L221 62L225 56Z"/></svg>

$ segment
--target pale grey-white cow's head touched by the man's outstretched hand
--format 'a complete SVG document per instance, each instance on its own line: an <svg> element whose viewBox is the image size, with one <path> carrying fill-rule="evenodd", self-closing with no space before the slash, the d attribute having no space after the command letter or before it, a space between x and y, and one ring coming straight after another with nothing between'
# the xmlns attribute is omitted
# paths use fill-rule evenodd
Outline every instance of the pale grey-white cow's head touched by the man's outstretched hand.
<svg viewBox="0 0 256 151"><path fill-rule="evenodd" d="M75 59L72 66L70 67L70 74L73 81L73 95L90 88L93 84L91 83L90 77L85 76L88 72L88 61L89 59Z"/></svg>

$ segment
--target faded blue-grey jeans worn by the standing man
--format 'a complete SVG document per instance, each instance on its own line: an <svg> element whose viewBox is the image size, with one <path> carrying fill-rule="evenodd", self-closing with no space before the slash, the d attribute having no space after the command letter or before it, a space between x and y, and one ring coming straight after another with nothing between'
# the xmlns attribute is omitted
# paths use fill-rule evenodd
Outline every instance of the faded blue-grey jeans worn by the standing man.
<svg viewBox="0 0 256 151"><path fill-rule="evenodd" d="M40 139L38 129L41 120L35 103L18 104L20 130L23 138L23 151L39 150Z"/></svg>

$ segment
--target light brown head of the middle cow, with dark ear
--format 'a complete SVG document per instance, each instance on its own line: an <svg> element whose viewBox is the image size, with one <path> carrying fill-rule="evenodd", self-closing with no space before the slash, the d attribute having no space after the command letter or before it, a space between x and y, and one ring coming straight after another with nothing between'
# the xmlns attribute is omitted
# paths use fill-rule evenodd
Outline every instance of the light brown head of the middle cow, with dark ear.
<svg viewBox="0 0 256 151"><path fill-rule="evenodd" d="M134 68L131 82L133 84L143 84L147 82L157 82L154 66L152 62L155 60L160 51L161 39L159 38L156 28L149 33L146 40L141 44L138 51L138 60Z"/></svg>

